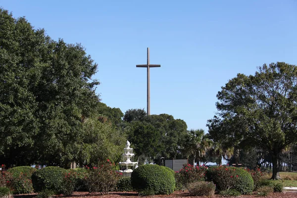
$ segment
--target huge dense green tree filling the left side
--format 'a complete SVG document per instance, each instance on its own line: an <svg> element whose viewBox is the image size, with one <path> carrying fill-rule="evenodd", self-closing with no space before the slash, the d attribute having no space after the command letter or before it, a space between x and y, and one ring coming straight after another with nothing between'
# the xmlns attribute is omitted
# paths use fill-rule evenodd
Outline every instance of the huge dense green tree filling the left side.
<svg viewBox="0 0 297 198"><path fill-rule="evenodd" d="M0 163L66 166L99 97L97 64L80 45L55 42L0 8Z"/></svg>

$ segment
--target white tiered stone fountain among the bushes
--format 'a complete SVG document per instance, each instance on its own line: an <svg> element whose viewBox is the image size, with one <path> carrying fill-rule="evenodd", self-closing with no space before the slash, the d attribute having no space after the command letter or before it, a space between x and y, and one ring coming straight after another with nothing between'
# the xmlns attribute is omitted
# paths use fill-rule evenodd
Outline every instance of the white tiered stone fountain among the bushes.
<svg viewBox="0 0 297 198"><path fill-rule="evenodd" d="M138 162L131 161L131 158L133 157L133 148L130 148L130 142L127 140L126 148L124 148L124 153L122 154L123 162L119 162L122 169L120 172L123 173L123 176L125 177L131 177L134 167L138 165Z"/></svg>

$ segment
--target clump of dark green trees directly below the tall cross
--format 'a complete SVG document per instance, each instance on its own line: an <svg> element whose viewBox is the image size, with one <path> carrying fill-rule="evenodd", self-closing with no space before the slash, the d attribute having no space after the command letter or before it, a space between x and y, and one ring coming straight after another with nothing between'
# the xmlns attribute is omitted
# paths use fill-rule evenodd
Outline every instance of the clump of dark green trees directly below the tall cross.
<svg viewBox="0 0 297 198"><path fill-rule="evenodd" d="M133 119L125 119L132 112ZM181 145L187 131L187 124L183 120L174 119L168 114L145 116L141 109L128 110L124 120L124 131L137 156L144 154L153 159L181 157Z"/></svg>

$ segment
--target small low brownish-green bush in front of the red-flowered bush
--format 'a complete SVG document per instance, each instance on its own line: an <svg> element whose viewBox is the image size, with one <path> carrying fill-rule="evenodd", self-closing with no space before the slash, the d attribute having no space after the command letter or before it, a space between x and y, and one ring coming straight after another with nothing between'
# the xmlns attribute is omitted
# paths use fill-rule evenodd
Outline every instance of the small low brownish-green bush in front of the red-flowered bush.
<svg viewBox="0 0 297 198"><path fill-rule="evenodd" d="M191 196L208 196L214 195L215 185L212 182L194 182L189 186L189 193Z"/></svg>

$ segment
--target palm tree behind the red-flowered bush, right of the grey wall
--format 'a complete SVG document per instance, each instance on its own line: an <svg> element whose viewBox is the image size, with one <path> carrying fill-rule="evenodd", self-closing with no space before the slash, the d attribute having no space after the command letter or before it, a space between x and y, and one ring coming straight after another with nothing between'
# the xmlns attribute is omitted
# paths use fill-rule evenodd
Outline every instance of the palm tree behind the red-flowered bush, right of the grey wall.
<svg viewBox="0 0 297 198"><path fill-rule="evenodd" d="M208 138L208 134L204 134L203 129L194 130L191 129L187 131L187 135L184 143L184 150L188 155L192 155L193 165L195 164L195 159L200 162L201 157L203 157L208 149L212 146L212 141Z"/></svg>

